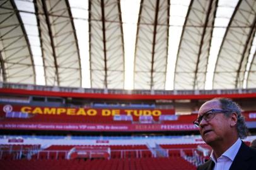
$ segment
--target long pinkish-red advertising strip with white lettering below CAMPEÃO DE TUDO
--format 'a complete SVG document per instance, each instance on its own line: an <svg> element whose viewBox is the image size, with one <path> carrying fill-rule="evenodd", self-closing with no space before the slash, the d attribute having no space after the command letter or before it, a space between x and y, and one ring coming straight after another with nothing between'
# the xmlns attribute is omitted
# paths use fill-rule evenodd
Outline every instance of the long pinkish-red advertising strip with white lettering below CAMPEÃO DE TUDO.
<svg viewBox="0 0 256 170"><path fill-rule="evenodd" d="M198 130L192 123L180 124L118 124L107 123L37 123L37 122L3 122L0 129L8 130L72 130L92 132L158 132L158 131L190 131Z"/></svg>

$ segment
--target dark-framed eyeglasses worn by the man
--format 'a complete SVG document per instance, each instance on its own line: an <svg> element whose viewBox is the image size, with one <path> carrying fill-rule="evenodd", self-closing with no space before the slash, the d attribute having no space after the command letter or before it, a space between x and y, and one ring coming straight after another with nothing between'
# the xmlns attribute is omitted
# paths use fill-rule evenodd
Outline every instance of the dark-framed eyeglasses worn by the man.
<svg viewBox="0 0 256 170"><path fill-rule="evenodd" d="M202 114L202 116L199 116L194 122L193 124L196 127L200 127L200 123L201 121L204 119L206 120L206 122L209 122L210 120L212 120L212 118L214 118L214 116L216 115L216 113L226 113L226 112L230 112L228 110L219 110L219 109L212 109L212 110L208 110L205 113Z"/></svg>

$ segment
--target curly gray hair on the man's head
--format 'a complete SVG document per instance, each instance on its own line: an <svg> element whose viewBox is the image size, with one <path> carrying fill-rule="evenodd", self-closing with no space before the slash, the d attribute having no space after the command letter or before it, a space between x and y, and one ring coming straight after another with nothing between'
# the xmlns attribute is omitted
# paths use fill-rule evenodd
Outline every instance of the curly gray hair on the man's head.
<svg viewBox="0 0 256 170"><path fill-rule="evenodd" d="M247 137L248 128L245 124L245 118L241 115L241 108L240 106L231 99L228 98L214 98L217 99L221 103L221 108L223 110L231 111L231 113L235 112L237 114L237 123L236 123L236 130L238 133L238 137L240 139L245 139ZM231 114L230 113L230 114ZM230 114L226 114L229 116Z"/></svg>

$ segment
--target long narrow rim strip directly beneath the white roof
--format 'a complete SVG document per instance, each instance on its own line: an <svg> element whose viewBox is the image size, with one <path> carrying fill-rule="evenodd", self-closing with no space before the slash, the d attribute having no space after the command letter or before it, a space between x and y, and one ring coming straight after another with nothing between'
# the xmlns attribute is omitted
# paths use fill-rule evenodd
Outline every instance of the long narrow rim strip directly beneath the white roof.
<svg viewBox="0 0 256 170"><path fill-rule="evenodd" d="M69 88L57 86L40 86L33 84L18 84L11 82L0 82L0 88L10 89L26 89L26 90L39 90L39 91L58 91L58 92L71 92L71 93L100 93L100 94L160 94L160 95L173 95L173 94L248 94L256 93L256 88L253 89L213 89L213 90L125 90L125 89L88 89L88 88Z"/></svg>

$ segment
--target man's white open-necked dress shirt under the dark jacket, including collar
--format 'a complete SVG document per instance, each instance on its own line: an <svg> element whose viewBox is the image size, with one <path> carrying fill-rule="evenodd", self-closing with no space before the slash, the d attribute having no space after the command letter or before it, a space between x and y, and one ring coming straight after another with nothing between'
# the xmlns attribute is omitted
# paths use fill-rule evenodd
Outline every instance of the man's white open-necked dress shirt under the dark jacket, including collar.
<svg viewBox="0 0 256 170"><path fill-rule="evenodd" d="M235 144L233 144L228 150L226 150L217 160L211 152L211 160L215 163L214 170L227 170L230 169L232 162L234 161L236 154L241 146L241 140L238 138Z"/></svg>

